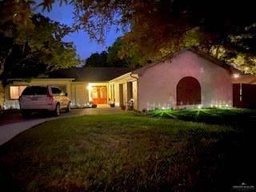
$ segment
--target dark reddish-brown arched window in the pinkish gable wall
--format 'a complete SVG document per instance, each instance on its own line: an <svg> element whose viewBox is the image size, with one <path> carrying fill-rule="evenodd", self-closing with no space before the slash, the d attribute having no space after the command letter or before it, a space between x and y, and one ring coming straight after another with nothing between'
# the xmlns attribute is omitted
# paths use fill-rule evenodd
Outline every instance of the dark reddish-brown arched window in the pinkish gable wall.
<svg viewBox="0 0 256 192"><path fill-rule="evenodd" d="M182 78L177 85L177 106L201 104L201 86L196 78Z"/></svg>

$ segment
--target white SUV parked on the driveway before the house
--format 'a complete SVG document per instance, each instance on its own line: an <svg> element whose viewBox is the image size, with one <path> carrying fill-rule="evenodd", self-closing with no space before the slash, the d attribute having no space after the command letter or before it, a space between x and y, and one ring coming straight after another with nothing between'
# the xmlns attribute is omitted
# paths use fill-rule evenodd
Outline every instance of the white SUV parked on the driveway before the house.
<svg viewBox="0 0 256 192"><path fill-rule="evenodd" d="M62 109L70 111L70 98L55 86L27 86L18 100L23 117L29 116L33 111L46 110L53 112L55 116Z"/></svg>

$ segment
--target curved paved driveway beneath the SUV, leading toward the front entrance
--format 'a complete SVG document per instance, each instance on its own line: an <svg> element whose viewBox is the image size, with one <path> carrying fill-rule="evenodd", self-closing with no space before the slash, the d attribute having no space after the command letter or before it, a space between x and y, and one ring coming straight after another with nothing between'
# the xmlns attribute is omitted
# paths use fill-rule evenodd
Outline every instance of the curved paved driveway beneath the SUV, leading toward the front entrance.
<svg viewBox="0 0 256 192"><path fill-rule="evenodd" d="M94 109L73 109L70 113L62 113L56 118L68 118L79 115L91 114L122 114L126 113L119 108L94 108ZM56 118L46 118L34 115L31 118L23 119L19 113L9 114L0 119L0 146L14 138L17 134L22 133L24 130L30 129L43 122L48 122Z"/></svg>

